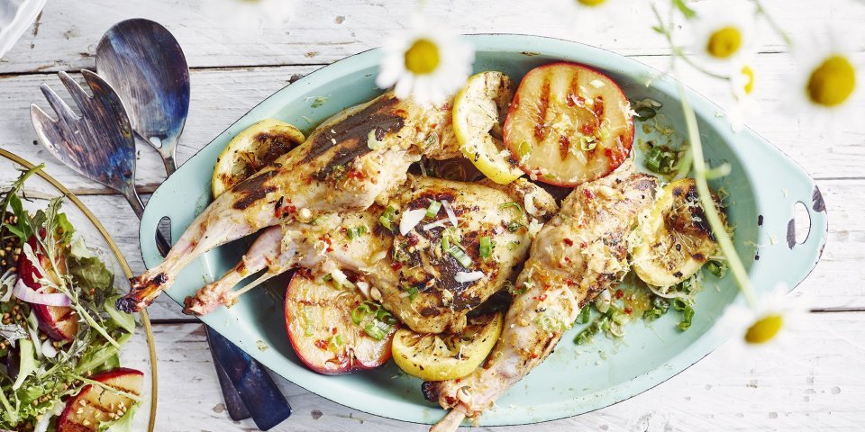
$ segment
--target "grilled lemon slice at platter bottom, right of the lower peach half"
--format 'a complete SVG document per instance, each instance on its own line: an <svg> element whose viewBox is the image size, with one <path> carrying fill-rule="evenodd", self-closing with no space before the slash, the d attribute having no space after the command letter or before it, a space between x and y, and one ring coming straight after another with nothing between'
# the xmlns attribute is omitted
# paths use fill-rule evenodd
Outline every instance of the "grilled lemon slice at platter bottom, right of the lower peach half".
<svg viewBox="0 0 865 432"><path fill-rule="evenodd" d="M501 313L469 318L459 334L419 334L399 329L394 335L396 365L424 381L443 381L470 374L487 358L502 332Z"/></svg>

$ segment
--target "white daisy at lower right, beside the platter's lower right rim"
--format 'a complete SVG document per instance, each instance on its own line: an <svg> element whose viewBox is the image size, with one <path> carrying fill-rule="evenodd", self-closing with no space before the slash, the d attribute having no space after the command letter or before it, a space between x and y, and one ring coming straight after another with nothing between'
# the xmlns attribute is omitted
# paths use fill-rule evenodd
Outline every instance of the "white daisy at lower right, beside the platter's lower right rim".
<svg viewBox="0 0 865 432"><path fill-rule="evenodd" d="M808 302L805 296L787 292L786 284L778 284L775 291L761 296L752 307L731 304L724 310L717 329L731 336L731 346L725 347L728 355L742 358L744 351L788 342L789 330L808 311Z"/></svg>

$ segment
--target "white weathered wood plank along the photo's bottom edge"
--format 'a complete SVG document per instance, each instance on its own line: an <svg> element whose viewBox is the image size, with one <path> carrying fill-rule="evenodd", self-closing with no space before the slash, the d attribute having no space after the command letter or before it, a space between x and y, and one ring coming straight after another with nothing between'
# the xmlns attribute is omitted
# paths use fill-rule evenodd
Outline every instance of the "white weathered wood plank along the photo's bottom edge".
<svg viewBox="0 0 865 432"><path fill-rule="evenodd" d="M201 326L160 325L155 330L161 395L157 429L253 428L250 420L228 418ZM733 347L728 344L631 400L572 419L507 430L858 430L865 416L865 347L860 344L865 313L809 314L794 330L792 345L743 356L742 363L730 361ZM277 382L295 414L273 430L426 430L350 410L278 377Z"/></svg>

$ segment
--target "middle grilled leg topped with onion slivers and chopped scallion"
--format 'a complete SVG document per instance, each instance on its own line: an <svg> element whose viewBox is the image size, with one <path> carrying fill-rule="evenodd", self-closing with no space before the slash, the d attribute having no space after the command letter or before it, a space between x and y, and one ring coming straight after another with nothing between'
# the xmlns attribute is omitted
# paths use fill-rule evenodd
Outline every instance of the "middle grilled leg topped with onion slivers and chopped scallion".
<svg viewBox="0 0 865 432"><path fill-rule="evenodd" d="M453 227L447 212L441 209L405 235L399 234L401 218L407 212L425 211L432 201L449 202L458 226ZM360 275L364 283L371 285L372 297L414 331L460 329L465 315L501 289L528 255L531 238L527 217L522 211L506 210L515 207L512 202L519 202L519 207L530 202L533 216L541 220L557 210L549 193L525 180L496 189L411 177L386 206L323 215L314 224L294 221L284 227L284 233L278 228L265 231L241 264L187 298L186 311L203 314L231 304L237 295L230 291L233 285L264 268L268 270L262 277L269 278L291 267L304 266L323 274L350 270ZM392 225L396 232L379 222L388 206L396 210ZM364 227L360 231L363 234L349 232L359 227ZM495 245L488 257L480 256L480 238L484 237ZM449 247L464 250L469 266L460 264L454 257L459 254L455 250L449 253ZM475 281L458 281L460 274L475 271L483 276Z"/></svg>

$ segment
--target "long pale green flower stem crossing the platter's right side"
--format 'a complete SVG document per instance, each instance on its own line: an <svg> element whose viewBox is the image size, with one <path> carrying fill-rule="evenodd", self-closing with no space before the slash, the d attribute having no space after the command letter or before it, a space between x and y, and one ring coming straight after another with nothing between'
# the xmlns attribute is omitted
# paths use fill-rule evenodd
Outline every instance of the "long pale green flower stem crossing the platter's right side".
<svg viewBox="0 0 865 432"><path fill-rule="evenodd" d="M721 253L727 258L727 263L730 270L733 272L733 279L739 285L739 290L745 296L745 300L751 307L757 305L757 297L754 294L751 279L748 278L748 272L745 271L745 266L742 265L742 259L736 253L736 248L733 246L733 239L724 227L724 221L721 220L721 215L718 214L715 200L712 198L712 193L709 191L709 184L706 181L706 159L703 158L703 143L700 140L700 130L697 127L697 114L687 102L687 94L685 87L678 85L678 92L682 99L682 111L685 113L685 125L687 128L687 139L690 144L690 151L693 156L692 166L694 167L694 181L697 183L697 193L700 197L700 204L703 206L703 211L706 213L706 220L709 222L709 227L712 233L718 240L718 246L721 248Z"/></svg>

